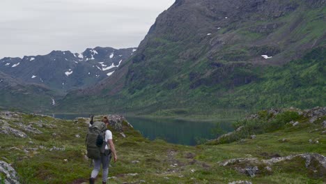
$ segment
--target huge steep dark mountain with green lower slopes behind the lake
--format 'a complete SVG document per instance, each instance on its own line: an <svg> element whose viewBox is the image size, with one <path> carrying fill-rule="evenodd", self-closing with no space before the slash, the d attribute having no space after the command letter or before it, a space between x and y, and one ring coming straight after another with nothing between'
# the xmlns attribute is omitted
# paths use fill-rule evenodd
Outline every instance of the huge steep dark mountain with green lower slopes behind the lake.
<svg viewBox="0 0 326 184"><path fill-rule="evenodd" d="M61 107L83 99L90 110L169 115L325 105L325 5L176 1L116 75Z"/></svg>

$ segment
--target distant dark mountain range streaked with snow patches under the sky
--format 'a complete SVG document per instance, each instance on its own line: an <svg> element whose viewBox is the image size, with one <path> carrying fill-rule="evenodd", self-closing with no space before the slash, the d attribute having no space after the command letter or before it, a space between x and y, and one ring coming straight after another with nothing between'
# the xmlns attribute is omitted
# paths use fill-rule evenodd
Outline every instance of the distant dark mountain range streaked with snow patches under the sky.
<svg viewBox="0 0 326 184"><path fill-rule="evenodd" d="M68 91L95 84L111 75L135 50L95 47L81 54L53 51L45 56L4 58L0 60L0 71L24 82Z"/></svg>

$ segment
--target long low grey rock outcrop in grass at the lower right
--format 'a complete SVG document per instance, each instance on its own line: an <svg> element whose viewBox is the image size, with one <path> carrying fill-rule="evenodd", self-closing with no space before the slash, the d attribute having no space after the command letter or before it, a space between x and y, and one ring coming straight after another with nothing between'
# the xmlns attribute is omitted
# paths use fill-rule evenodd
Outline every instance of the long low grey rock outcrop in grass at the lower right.
<svg viewBox="0 0 326 184"><path fill-rule="evenodd" d="M254 177L256 174L271 172L273 164L286 161L292 162L297 158L303 159L306 169L310 169L313 173L319 176L323 176L323 174L326 173L326 158L318 153L303 153L299 155L271 158L269 160L259 160L258 158L235 158L224 162L218 162L218 164L223 167L233 167L242 174Z"/></svg>

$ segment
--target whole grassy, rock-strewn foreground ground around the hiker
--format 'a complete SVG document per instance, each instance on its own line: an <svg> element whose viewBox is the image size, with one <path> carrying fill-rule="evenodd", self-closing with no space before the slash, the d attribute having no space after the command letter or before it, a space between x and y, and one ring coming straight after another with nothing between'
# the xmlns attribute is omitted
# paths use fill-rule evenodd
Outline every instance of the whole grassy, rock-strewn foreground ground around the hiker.
<svg viewBox="0 0 326 184"><path fill-rule="evenodd" d="M109 183L326 182L326 107L258 112L199 146L149 141L123 116L109 119L119 159ZM88 121L0 112L0 183L87 183Z"/></svg>

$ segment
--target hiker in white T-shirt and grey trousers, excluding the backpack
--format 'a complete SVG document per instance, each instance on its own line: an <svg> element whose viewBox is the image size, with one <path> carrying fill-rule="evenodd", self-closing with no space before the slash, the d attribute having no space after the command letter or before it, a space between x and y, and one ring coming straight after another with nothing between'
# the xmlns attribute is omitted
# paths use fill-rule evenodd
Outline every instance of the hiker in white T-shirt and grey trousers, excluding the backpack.
<svg viewBox="0 0 326 184"><path fill-rule="evenodd" d="M104 116L102 118L102 122L105 123L105 128L107 128L107 125L109 125L109 119L107 118L107 116ZM90 123L90 127L91 127L91 123ZM105 130L104 144L105 144L104 153L100 153L100 158L93 159L94 169L91 173L91 178L89 178L90 184L95 183L95 178L96 176L98 176L98 173L100 172L101 163L103 169L102 183L103 184L107 183L107 176L109 174L109 163L111 160L111 155L113 154L114 162L116 162L116 160L118 159L116 155L116 149L114 148L114 143L112 140L112 132L107 129Z"/></svg>

